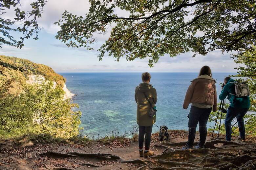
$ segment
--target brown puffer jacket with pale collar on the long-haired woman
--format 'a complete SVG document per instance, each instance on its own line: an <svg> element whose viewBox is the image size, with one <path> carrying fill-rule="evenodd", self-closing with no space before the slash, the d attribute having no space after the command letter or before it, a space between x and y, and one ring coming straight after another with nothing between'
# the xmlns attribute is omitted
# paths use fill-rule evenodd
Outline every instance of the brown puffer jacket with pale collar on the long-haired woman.
<svg viewBox="0 0 256 170"><path fill-rule="evenodd" d="M212 110L217 111L216 81L208 75L202 75L191 82L187 89L183 108L187 109L190 103L202 103L212 105Z"/></svg>

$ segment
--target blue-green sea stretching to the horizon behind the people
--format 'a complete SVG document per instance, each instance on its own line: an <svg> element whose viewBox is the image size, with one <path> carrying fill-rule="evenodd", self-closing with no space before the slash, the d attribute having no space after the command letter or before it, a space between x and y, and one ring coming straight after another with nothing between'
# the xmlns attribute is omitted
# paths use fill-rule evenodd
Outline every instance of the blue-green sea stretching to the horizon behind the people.
<svg viewBox="0 0 256 170"><path fill-rule="evenodd" d="M67 88L75 93L73 102L82 112L82 133L99 138L106 135L127 135L136 124L137 104L134 98L136 86L141 81L141 73L59 73L66 78ZM213 73L219 83L225 76L235 73ZM190 81L198 73L151 73L150 83L157 90L156 125L169 129L188 129L190 106L182 108L184 96ZM208 124L210 126L212 124ZM153 131L159 130L155 125Z"/></svg>

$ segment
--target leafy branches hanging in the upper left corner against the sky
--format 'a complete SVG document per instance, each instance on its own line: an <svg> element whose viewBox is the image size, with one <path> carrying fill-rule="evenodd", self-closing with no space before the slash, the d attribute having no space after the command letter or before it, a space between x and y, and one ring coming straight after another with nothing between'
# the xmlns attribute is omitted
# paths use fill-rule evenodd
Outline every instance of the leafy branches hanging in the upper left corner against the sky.
<svg viewBox="0 0 256 170"><path fill-rule="evenodd" d="M0 0L0 16L6 13L5 10L11 10L11 7L15 8L16 15L14 21L0 17L0 33L2 34L0 37L0 47L3 44L7 44L22 48L25 39L33 37L34 40L38 40L38 32L41 28L38 27L37 18L42 16L41 13L46 2L44 0L36 0L30 4L32 9L25 12L21 9L20 0ZM16 23L15 21L19 22L22 27L13 28ZM23 36L20 37L19 41L15 40L10 34L11 31L21 32Z"/></svg>

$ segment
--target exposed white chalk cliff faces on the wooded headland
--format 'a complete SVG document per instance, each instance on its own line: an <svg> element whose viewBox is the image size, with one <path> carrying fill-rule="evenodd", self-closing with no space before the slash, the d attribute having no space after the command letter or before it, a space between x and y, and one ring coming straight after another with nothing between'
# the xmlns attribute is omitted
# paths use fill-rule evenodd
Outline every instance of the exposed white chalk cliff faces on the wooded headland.
<svg viewBox="0 0 256 170"><path fill-rule="evenodd" d="M47 80L45 80L45 77L43 75L29 75L28 77L29 77L29 80L27 80L26 82L29 84L33 84L33 83L41 84L41 83L47 81ZM53 81L53 88L56 88L56 86L57 86L57 83L55 81ZM63 98L64 100L72 98L75 95L67 89L65 83L63 86L63 90L65 92L64 98Z"/></svg>

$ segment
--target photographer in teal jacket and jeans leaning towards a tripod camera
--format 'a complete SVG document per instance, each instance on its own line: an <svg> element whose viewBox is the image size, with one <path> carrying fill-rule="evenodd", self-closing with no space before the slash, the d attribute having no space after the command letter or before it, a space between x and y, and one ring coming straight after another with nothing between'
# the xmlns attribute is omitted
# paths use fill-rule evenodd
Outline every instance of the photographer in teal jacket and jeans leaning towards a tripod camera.
<svg viewBox="0 0 256 170"><path fill-rule="evenodd" d="M245 123L244 116L250 107L249 96L237 97L235 94L235 80L231 77L225 77L224 87L222 87L221 94L219 96L220 100L227 99L230 102L230 106L227 109L227 114L225 118L225 129L226 129L226 141L231 141L231 122L236 117L238 127L239 127L239 140L245 141Z"/></svg>

